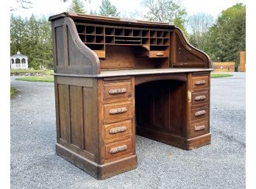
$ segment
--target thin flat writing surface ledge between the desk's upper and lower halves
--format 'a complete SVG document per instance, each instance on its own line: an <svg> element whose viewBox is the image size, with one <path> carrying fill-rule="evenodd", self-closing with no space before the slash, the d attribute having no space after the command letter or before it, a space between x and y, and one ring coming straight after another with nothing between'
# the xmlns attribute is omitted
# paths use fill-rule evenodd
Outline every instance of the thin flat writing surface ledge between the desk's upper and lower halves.
<svg viewBox="0 0 256 189"><path fill-rule="evenodd" d="M130 69L130 70L111 70L101 71L101 74L60 74L55 76L82 76L82 77L110 77L110 76L136 76L149 74L171 74L187 73L199 71L213 71L213 68L155 68L155 69Z"/></svg>

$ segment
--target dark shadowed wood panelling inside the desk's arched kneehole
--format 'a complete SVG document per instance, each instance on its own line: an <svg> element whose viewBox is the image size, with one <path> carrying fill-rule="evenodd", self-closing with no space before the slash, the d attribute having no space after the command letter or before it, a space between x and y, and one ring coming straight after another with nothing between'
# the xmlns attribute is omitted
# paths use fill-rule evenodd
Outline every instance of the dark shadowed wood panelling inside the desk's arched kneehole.
<svg viewBox="0 0 256 189"><path fill-rule="evenodd" d="M185 82L163 80L135 88L138 125L182 132L185 124Z"/></svg>

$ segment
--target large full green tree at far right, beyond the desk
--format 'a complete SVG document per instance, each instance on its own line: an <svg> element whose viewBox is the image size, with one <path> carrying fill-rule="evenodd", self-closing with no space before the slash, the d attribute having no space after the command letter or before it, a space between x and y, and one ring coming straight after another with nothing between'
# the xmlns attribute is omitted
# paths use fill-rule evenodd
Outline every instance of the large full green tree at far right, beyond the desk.
<svg viewBox="0 0 256 189"><path fill-rule="evenodd" d="M205 51L213 61L238 61L246 49L246 6L239 3L221 12L207 32Z"/></svg>

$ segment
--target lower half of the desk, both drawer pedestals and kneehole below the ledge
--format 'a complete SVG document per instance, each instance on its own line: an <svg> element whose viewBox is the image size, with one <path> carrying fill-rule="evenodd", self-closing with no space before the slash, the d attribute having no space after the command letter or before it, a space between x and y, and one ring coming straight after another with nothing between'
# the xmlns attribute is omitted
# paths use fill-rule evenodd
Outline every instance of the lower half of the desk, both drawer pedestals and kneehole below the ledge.
<svg viewBox="0 0 256 189"><path fill-rule="evenodd" d="M106 179L137 167L136 132L181 149L209 144L209 74L55 75L57 154Z"/></svg>

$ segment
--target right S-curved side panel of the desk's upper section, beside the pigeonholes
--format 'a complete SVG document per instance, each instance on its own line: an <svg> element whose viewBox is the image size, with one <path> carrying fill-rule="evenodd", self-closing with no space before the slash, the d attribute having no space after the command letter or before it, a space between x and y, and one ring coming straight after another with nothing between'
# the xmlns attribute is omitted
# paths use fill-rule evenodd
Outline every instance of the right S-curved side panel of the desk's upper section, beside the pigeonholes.
<svg viewBox="0 0 256 189"><path fill-rule="evenodd" d="M171 33L172 68L213 68L212 64L205 52L188 43L181 29L174 28Z"/></svg>

